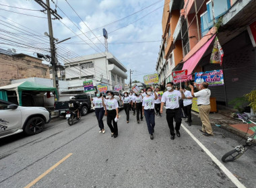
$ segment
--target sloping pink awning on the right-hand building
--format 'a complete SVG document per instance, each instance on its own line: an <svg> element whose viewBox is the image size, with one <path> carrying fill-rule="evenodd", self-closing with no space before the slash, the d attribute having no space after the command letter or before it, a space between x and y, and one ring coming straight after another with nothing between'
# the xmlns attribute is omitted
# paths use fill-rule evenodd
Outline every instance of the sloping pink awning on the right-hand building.
<svg viewBox="0 0 256 188"><path fill-rule="evenodd" d="M210 46L212 41L214 40L215 36L213 36L210 40L208 40L203 46L193 54L184 64L183 64L183 70L187 69L187 75L191 75L191 73L194 71L195 66L197 66L197 63L199 60L201 60L203 54L207 50L207 48Z"/></svg>

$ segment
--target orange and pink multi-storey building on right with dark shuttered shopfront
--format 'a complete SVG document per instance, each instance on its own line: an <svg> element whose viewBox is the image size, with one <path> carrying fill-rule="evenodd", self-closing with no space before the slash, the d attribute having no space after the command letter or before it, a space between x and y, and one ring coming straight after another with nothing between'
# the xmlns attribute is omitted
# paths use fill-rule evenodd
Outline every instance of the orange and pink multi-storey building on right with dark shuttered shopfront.
<svg viewBox="0 0 256 188"><path fill-rule="evenodd" d="M256 21L255 8L255 0L166 0L162 38L166 60L174 60L172 71L187 69L193 79L222 69L224 85L210 89L224 105L249 93L256 84L256 50L247 28ZM216 36L224 50L222 66L210 64Z"/></svg>

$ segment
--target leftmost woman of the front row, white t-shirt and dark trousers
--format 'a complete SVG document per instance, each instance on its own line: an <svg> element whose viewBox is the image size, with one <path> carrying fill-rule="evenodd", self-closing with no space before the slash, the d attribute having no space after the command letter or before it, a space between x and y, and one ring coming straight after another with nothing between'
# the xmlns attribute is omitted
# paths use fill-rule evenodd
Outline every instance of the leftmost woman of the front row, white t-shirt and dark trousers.
<svg viewBox="0 0 256 188"><path fill-rule="evenodd" d="M102 93L99 93L98 91L96 92L96 97L92 99L92 104L95 107L95 114L98 120L98 126L100 127L100 133L105 133L104 130L104 124L103 124L103 117L104 117L104 103L105 99L102 97Z"/></svg>

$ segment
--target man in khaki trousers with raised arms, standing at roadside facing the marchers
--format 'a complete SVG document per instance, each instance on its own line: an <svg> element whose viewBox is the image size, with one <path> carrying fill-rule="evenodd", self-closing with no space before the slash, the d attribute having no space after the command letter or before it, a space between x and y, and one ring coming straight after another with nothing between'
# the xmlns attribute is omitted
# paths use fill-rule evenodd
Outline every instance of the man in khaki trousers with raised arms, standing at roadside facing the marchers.
<svg viewBox="0 0 256 188"><path fill-rule="evenodd" d="M211 91L208 89L208 83L203 82L200 85L197 85L194 83L194 85L197 86L198 92L194 93L194 87L193 85L189 85L191 88L191 94L193 97L197 97L197 105L199 109L199 115L202 122L202 129L199 130L200 132L203 132L203 136L212 136L214 135L212 133L212 126L209 119L209 113L210 113L210 96Z"/></svg>

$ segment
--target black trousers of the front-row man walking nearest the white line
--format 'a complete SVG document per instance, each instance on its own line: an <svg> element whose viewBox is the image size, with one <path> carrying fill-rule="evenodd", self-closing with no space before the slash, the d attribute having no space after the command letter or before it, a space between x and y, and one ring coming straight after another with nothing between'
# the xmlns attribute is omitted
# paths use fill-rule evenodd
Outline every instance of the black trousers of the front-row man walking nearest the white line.
<svg viewBox="0 0 256 188"><path fill-rule="evenodd" d="M175 120L175 130L179 131L181 128L181 113L179 108L176 109L166 109L166 120L168 123L168 127L170 129L170 135L174 136L174 126L173 119Z"/></svg>

